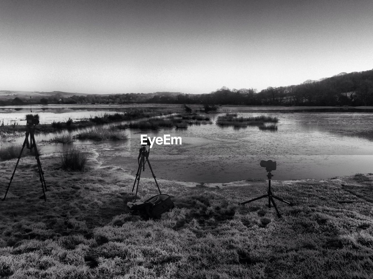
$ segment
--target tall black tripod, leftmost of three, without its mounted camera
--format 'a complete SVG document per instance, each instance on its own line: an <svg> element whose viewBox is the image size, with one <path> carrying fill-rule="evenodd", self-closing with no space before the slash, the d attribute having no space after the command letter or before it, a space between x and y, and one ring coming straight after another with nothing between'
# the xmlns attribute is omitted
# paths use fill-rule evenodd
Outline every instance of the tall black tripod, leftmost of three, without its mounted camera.
<svg viewBox="0 0 373 279"><path fill-rule="evenodd" d="M36 124L32 124L32 123L27 123L26 124L25 141L23 141L21 153L18 156L16 167L14 168L13 175L10 178L9 185L8 185L8 188L6 189L3 201L5 200L6 194L8 193L8 190L9 190L9 187L10 187L10 184L12 183L14 174L16 172L16 169L17 169L17 166L18 166L18 163L19 163L19 159L21 159L22 152L23 152L23 149L25 149L25 146L30 150L30 152L32 152L32 148L34 148L35 159L36 159L37 164L38 164L38 172L39 172L39 176L40 176L41 188L43 189L44 201L46 201L46 193L45 193L45 191L47 191L47 186L46 186L46 182L44 180L44 172L41 169L41 163L40 163L40 159L39 159L39 153L38 153L38 150L37 150L37 147L36 147L36 142L35 142L35 137L34 137L35 129L36 129L35 126L36 126ZM30 137L30 141L28 141L28 137Z"/></svg>

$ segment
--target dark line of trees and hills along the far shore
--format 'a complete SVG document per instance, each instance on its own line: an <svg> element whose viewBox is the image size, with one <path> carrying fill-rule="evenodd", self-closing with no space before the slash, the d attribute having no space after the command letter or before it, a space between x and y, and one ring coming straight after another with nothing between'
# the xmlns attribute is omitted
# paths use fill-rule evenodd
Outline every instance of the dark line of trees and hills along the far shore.
<svg viewBox="0 0 373 279"><path fill-rule="evenodd" d="M248 106L373 106L373 69L363 72L340 73L317 81L284 87L229 89L222 87L209 94L180 92L129 93L112 95L73 95L23 101L15 98L9 104L212 104ZM2 101L4 104L4 101ZM1 105L1 102L0 102Z"/></svg>

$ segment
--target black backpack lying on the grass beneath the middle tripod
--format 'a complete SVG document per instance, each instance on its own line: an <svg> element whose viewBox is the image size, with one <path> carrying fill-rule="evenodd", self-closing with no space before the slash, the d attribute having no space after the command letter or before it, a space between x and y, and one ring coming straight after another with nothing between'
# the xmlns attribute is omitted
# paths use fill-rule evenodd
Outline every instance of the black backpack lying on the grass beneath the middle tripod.
<svg viewBox="0 0 373 279"><path fill-rule="evenodd" d="M145 219L159 219L161 215L175 206L169 195L161 194L147 201L137 201L129 206L132 214L140 214Z"/></svg>

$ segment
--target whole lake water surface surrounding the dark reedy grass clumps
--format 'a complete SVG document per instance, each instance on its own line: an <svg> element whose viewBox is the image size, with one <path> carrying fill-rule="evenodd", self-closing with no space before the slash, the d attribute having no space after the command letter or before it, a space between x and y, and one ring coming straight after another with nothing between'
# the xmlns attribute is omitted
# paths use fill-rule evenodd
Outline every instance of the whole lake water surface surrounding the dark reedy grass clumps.
<svg viewBox="0 0 373 279"><path fill-rule="evenodd" d="M179 105L145 105L138 108L172 110ZM33 106L32 113L40 115L41 123L84 119L103 113L124 112L133 106ZM17 110L18 109L18 110ZM261 160L277 162L272 172L274 180L325 179L355 173L373 172L373 110L304 107L229 107L238 116L270 115L278 117L278 131L221 127L214 124L192 125L188 129L164 128L159 131L127 129L127 141L76 141L72 144L41 144L43 153L58 153L80 145L95 151L101 166L118 166L123 171L137 171L140 135L149 137L181 137L181 145L154 144L150 163L158 179L191 182L226 183L249 178L266 179ZM224 111L224 112L223 112ZM19 120L30 113L30 107L0 108L0 121ZM202 113L201 113L202 114ZM20 123L23 124L23 123ZM73 132L74 134L76 131ZM52 138L39 135L37 141ZM17 142L22 143L23 138ZM42 158L42 157L41 157ZM43 163L43 162L42 162ZM47 170L45 170L47 171ZM148 167L142 176L151 178Z"/></svg>

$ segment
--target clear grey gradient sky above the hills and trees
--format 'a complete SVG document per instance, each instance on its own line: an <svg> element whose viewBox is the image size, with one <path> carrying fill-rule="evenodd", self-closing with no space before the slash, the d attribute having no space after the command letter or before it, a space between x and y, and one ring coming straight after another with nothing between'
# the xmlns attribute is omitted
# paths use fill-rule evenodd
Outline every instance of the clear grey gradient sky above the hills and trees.
<svg viewBox="0 0 373 279"><path fill-rule="evenodd" d="M0 90L188 94L373 68L372 0L0 0Z"/></svg>

